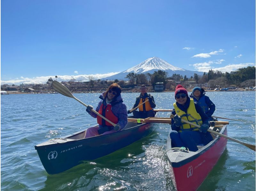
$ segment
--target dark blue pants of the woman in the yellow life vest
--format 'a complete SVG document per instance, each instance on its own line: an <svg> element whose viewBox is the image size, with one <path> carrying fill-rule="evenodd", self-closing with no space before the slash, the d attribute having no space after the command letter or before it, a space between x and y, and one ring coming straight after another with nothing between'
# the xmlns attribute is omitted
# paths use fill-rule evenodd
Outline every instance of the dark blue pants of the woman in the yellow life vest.
<svg viewBox="0 0 256 191"><path fill-rule="evenodd" d="M190 151L197 151L197 145L207 145L213 139L209 132L204 134L199 131L171 131L170 138L172 147L187 147Z"/></svg>

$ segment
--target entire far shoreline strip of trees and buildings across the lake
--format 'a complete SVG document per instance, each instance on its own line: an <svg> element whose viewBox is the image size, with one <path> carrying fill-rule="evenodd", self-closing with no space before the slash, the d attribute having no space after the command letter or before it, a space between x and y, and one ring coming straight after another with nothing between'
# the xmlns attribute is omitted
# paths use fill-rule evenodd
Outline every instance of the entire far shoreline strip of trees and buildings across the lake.
<svg viewBox="0 0 256 191"><path fill-rule="evenodd" d="M148 92L172 92L175 87L181 84L184 88L192 89L194 87L202 87L206 91L214 91L215 88L226 88L229 91L243 91L255 87L255 66L248 66L247 68L240 68L233 72L222 73L220 71L209 70L202 76L194 74L194 76L183 77L180 74L173 74L167 77L168 73L162 70L155 71L153 74L143 73L129 73L125 80L96 80L93 76L89 76L89 81L76 81L72 78L69 81L62 81L71 92L74 93L98 93L105 91L112 83L118 83L123 92L139 92L141 84L148 87ZM58 76L55 76L56 80ZM1 85L1 91L7 93L53 93L51 87L52 78L45 84L15 84ZM160 88L159 88L160 87Z"/></svg>

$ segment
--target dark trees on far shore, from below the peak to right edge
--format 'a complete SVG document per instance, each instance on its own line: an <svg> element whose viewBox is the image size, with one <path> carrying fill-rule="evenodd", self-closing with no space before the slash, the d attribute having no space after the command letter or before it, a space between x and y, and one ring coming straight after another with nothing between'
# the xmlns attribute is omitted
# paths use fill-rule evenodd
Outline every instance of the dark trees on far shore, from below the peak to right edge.
<svg viewBox="0 0 256 191"><path fill-rule="evenodd" d="M230 85L243 88L243 87L254 87L255 86L255 66L248 66L247 68L240 68L234 72L222 73L220 71L209 70L208 73L203 75L194 74L194 76L182 76L180 74L173 74L171 77L167 77L168 73L158 70L153 74L136 74L129 73L126 75L126 78L129 80L130 85L140 85L147 84L152 85L153 87L157 82L164 82L164 87L166 89L173 90L175 88L176 82L184 84L186 82L196 81L196 84L208 83L211 88L227 88ZM170 82L168 82L170 80ZM175 81L172 82L171 80Z"/></svg>

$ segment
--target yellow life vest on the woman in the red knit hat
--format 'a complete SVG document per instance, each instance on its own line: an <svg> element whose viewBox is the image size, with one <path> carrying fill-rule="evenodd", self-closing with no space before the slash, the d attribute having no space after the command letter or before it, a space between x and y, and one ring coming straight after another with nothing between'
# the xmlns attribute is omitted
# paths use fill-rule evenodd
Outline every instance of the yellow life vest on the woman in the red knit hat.
<svg viewBox="0 0 256 191"><path fill-rule="evenodd" d="M177 115L180 116L181 119L184 119L186 121L195 123L197 125L202 125L202 118L199 115L199 113L196 112L196 107L195 107L195 103L193 99L190 99L190 103L189 103L189 107L187 110L187 113L185 113L184 111L182 111L175 103L173 103L173 107L175 109L175 112ZM182 131L198 131L198 127L184 123L181 121L181 125L180 125L180 130L179 132Z"/></svg>

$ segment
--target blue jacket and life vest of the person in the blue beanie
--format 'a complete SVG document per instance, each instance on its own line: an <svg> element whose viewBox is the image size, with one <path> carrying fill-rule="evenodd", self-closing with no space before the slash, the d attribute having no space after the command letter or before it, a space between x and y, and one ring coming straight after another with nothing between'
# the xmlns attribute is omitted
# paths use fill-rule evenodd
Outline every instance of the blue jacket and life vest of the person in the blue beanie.
<svg viewBox="0 0 256 191"><path fill-rule="evenodd" d="M201 96L199 98L199 100L197 100L194 96L193 96L193 93L191 93L190 97L193 98L194 102L198 103L203 111L205 112L205 114L208 116L208 117L211 117L212 114L214 113L215 111L215 105L214 103L210 100L210 98L208 96L205 96L205 91L204 89L202 89L202 93L201 93Z"/></svg>

